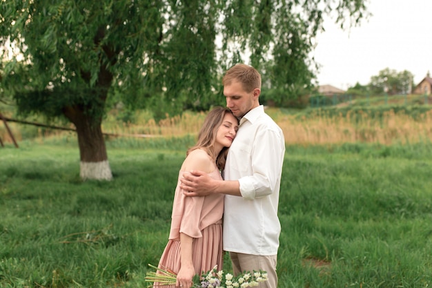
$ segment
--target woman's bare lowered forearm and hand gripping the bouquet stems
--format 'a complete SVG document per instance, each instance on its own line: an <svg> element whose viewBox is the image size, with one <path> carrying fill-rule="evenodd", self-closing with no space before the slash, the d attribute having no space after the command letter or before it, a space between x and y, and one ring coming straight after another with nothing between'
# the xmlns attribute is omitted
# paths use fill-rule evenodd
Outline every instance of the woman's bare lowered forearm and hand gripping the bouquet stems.
<svg viewBox="0 0 432 288"><path fill-rule="evenodd" d="M195 276L195 268L192 262L192 242L193 238L185 233L180 233L180 271L177 273L177 286L190 288L192 278Z"/></svg>

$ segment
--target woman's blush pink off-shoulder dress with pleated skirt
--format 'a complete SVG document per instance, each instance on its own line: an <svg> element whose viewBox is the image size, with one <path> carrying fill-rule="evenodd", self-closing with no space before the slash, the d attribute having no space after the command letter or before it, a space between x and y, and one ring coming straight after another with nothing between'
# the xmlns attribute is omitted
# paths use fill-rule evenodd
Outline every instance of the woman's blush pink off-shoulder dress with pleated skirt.
<svg viewBox="0 0 432 288"><path fill-rule="evenodd" d="M195 274L209 271L217 265L222 270L222 215L224 213L224 195L216 193L204 197L186 197L179 188L183 171L175 189L170 236L159 267L168 268L178 273L180 270L180 233L194 238L192 260ZM218 170L209 173L210 177L222 180ZM158 283L155 283L157 286ZM174 287L174 286L173 286Z"/></svg>

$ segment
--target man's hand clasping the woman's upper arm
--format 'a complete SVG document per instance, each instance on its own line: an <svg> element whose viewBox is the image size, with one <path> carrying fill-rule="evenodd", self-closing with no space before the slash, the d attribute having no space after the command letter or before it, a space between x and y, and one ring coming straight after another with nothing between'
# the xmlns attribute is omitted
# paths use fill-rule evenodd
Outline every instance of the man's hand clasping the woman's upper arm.
<svg viewBox="0 0 432 288"><path fill-rule="evenodd" d="M202 171L183 173L180 188L186 196L206 196L215 190L216 180Z"/></svg>

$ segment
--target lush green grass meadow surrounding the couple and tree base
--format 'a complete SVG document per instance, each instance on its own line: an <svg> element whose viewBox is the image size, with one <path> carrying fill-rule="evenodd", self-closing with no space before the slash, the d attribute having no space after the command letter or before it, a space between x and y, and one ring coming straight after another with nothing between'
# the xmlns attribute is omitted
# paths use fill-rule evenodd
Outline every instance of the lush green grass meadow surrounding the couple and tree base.
<svg viewBox="0 0 432 288"><path fill-rule="evenodd" d="M0 287L146 287L190 142L110 140L111 182L72 140L0 148ZM279 287L430 287L431 171L430 143L288 146Z"/></svg>

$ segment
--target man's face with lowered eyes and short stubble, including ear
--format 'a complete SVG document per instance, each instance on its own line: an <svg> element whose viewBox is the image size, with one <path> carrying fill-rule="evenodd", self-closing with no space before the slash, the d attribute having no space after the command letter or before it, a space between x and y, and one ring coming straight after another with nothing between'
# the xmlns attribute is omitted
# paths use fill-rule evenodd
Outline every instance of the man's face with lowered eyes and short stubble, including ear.
<svg viewBox="0 0 432 288"><path fill-rule="evenodd" d="M252 108L259 106L259 93L258 88L252 92L246 92L239 81L233 81L231 84L224 86L226 106L230 108L235 117L243 117Z"/></svg>

